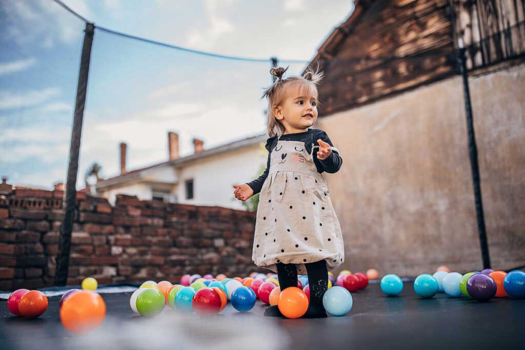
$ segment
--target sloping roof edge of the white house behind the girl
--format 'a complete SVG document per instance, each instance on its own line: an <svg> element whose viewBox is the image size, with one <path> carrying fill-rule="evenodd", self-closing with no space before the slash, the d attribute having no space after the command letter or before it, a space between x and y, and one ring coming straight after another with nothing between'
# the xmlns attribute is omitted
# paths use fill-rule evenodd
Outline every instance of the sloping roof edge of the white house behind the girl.
<svg viewBox="0 0 525 350"><path fill-rule="evenodd" d="M223 145L213 147L212 149L203 150L201 152L196 152L185 157L176 158L171 161L166 161L158 164L153 164L138 169L133 169L124 174L118 176L110 177L99 181L96 185L97 189L102 189L111 185L119 184L125 181L130 181L131 179L141 178L146 171L150 171L154 168L161 168L163 166L172 166L172 167L182 167L189 162L199 160L208 156L225 153L240 149L245 146L251 146L260 142L264 142L267 139L266 133L257 134L255 136L245 137L244 139L229 142Z"/></svg>

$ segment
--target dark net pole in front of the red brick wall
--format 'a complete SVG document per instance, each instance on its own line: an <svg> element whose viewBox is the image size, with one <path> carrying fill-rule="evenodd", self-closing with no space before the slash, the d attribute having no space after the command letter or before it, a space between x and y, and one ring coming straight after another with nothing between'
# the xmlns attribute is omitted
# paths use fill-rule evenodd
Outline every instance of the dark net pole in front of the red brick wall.
<svg viewBox="0 0 525 350"><path fill-rule="evenodd" d="M91 58L91 46L95 25L86 23L82 56L80 58L80 71L78 74L77 99L75 102L75 114L71 129L71 144L69 147L69 165L66 182L66 207L62 226L60 227L60 240L58 243L58 254L56 258L55 285L66 285L69 269L69 252L71 248L71 231L75 219L75 200L77 195L78 157L80 151L80 139L82 135L82 120L84 107L86 106L86 92L88 88L89 61Z"/></svg>

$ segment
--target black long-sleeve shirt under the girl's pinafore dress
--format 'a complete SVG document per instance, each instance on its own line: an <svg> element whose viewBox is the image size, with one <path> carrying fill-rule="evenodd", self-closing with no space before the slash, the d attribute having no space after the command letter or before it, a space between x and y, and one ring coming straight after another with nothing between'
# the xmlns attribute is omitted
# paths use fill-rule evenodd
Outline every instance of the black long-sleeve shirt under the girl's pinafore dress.
<svg viewBox="0 0 525 350"><path fill-rule="evenodd" d="M312 143L314 146L319 145L317 140L321 139L322 141L328 143L331 147L333 147L332 141L328 137L327 133L320 129L308 129L307 131L298 132L298 133L291 133L291 134L284 134L281 135L279 140L281 141L301 141L304 142L304 148L310 152L312 151ZM272 137L269 137L268 140L266 140L266 149L268 150L268 162L266 164L266 170L264 173L262 173L261 176L256 178L254 181L246 183L248 186L251 187L251 189L254 190L254 195L259 193L262 184L264 184L266 177L268 177L268 173L270 171L270 157L271 157L271 151L274 149L274 147L277 146L277 135L274 135ZM313 163L316 165L317 172L327 172L330 174L337 173L339 171L339 168L343 164L343 159L339 155L338 151L335 151L332 149L332 153L328 156L328 158L324 160L319 160L317 158L317 152L313 152Z"/></svg>

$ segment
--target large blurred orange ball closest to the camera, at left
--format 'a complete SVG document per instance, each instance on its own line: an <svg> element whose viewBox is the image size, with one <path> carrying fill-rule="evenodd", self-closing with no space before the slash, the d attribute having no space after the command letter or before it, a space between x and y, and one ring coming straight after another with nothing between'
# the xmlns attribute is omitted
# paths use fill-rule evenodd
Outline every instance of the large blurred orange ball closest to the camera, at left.
<svg viewBox="0 0 525 350"><path fill-rule="evenodd" d="M69 332L91 331L104 321L106 303L97 292L83 290L69 296L60 309L60 321Z"/></svg>

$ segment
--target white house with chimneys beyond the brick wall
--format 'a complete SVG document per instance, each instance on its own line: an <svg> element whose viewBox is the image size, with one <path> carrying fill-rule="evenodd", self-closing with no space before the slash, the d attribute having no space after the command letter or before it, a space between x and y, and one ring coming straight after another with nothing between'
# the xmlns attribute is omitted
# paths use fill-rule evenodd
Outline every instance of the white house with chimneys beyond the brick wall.
<svg viewBox="0 0 525 350"><path fill-rule="evenodd" d="M221 206L244 210L235 198L234 184L257 178L266 167L265 133L205 150L202 140L193 139L194 153L178 154L178 134L168 133L166 162L127 171L127 145L120 144L118 176L96 184L96 192L114 205L117 194L170 203ZM264 168L262 169L264 171Z"/></svg>

